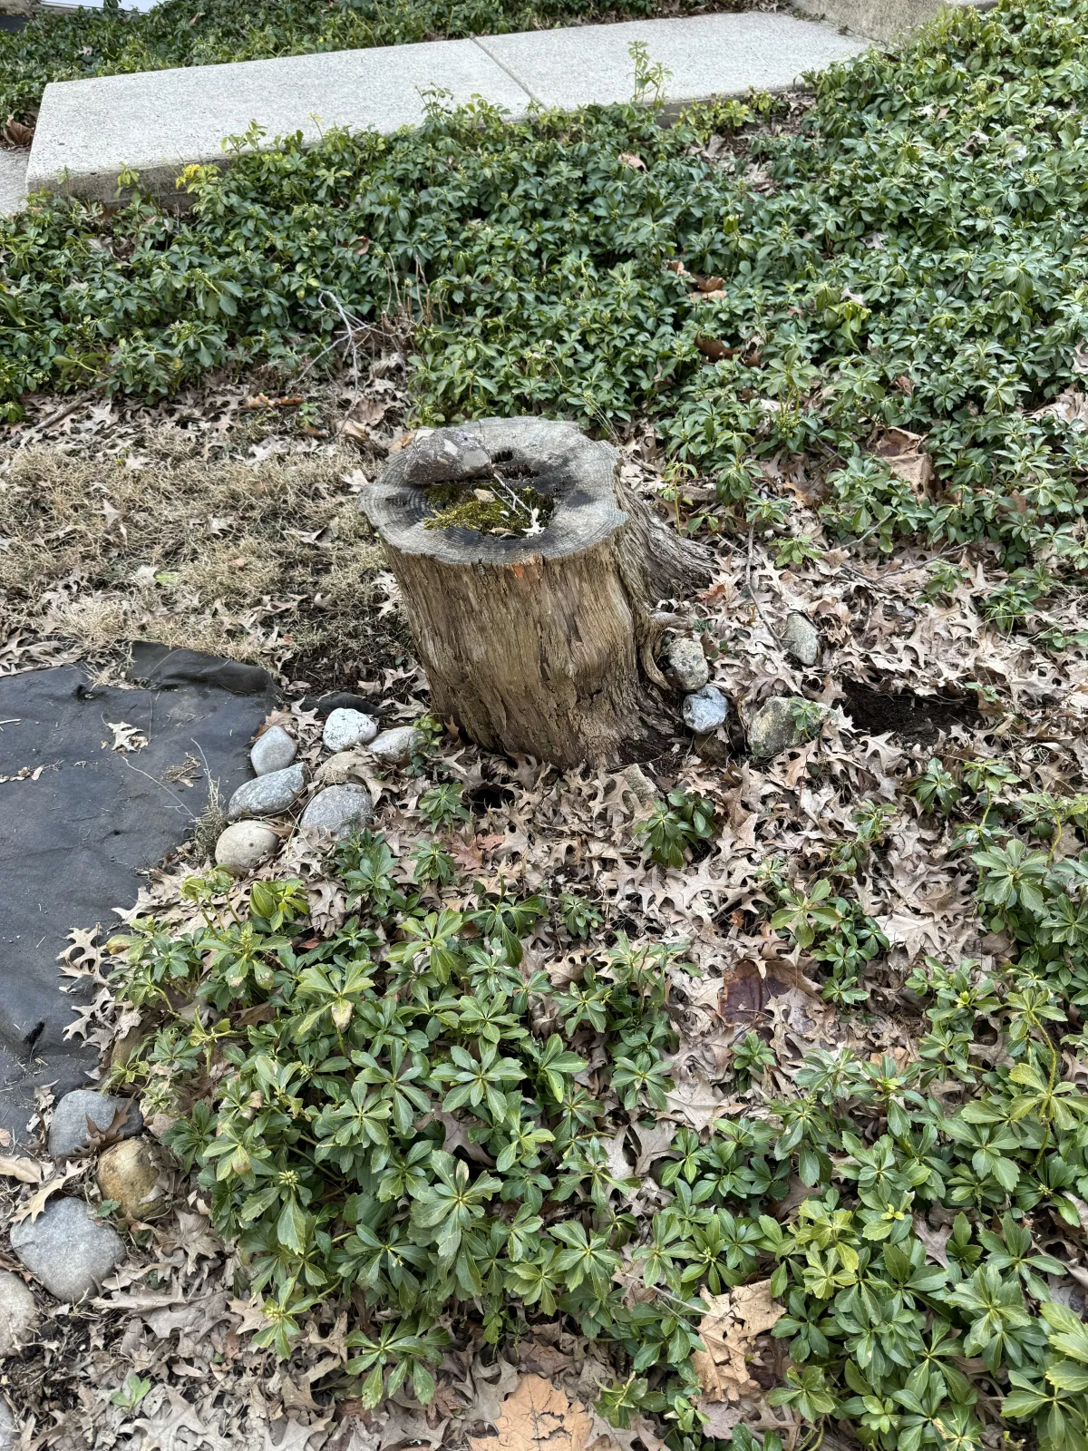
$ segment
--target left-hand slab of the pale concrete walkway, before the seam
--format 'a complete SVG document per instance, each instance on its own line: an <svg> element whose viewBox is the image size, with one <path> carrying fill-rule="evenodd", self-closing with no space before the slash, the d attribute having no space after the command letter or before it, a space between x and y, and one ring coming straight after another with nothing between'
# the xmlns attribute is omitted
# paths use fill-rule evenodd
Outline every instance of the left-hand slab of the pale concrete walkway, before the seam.
<svg viewBox="0 0 1088 1451"><path fill-rule="evenodd" d="M525 90L473 41L54 81L42 97L28 184L110 200L118 173L131 167L145 187L173 192L183 167L222 161L223 138L254 120L268 145L294 131L313 142L331 126L392 132L424 119L421 91L435 86L454 103L480 94L514 115L528 104Z"/></svg>

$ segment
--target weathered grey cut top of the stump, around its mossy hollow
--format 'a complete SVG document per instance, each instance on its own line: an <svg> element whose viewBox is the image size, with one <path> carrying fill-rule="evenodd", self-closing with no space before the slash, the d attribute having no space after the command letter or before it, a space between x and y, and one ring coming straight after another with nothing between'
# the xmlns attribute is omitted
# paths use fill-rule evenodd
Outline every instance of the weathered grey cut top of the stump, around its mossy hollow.
<svg viewBox="0 0 1088 1451"><path fill-rule="evenodd" d="M428 472L429 482L412 482L413 450L402 448L389 460L382 477L367 492L364 508L370 522L390 548L406 554L428 554L450 564L524 564L540 557L563 559L609 538L625 521L615 495L619 454L611 444L586 438L573 424L540 418L482 418L457 429L464 454L476 444L499 473L503 467L525 473L537 493L554 501L554 511L540 534L506 538L464 525L426 528L437 509L429 492L438 483L487 483L487 467L458 474L451 467L440 476L440 463ZM428 444L435 434L421 440ZM429 461L429 460L428 460ZM521 479L518 480L522 482Z"/></svg>

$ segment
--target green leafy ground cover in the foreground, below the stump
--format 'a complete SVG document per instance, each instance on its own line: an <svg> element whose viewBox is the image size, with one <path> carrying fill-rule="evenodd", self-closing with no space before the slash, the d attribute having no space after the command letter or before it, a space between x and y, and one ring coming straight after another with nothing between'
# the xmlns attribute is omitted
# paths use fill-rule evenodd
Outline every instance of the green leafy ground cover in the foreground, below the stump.
<svg viewBox="0 0 1088 1451"><path fill-rule="evenodd" d="M667 1109L683 943L603 933L569 895L476 884L453 910L441 840L400 859L368 833L341 846L353 916L323 937L299 882L257 882L231 908L229 876L190 878L194 930L141 920L112 945L151 1029L119 1078L145 1111L181 1113L168 1140L264 1296L261 1344L289 1354L318 1299L355 1291L339 1390L366 1405L406 1387L426 1402L469 1322L499 1345L561 1316L617 1367L602 1413L656 1413L673 1451L695 1451L708 1297L769 1280L789 1354L769 1402L801 1445L846 1419L882 1451L972 1451L1000 1412L1040 1451L1078 1451L1088 1335L1052 1246L1088 1194L1088 1097L1066 1056L1085 1046L1088 798L1018 785L1000 762L934 759L914 788L955 814L982 921L1010 942L1001 965L918 961L905 1062L814 1049L783 1094L770 1045L740 1035L733 1072L763 1084L760 1107L680 1129L650 1216L608 1151ZM853 900L886 817L860 810L804 885L765 871L770 927L846 1013L888 946ZM548 914L598 943L561 990L527 966ZM798 1181L809 1197L783 1212ZM760 1438L741 1426L731 1445Z"/></svg>

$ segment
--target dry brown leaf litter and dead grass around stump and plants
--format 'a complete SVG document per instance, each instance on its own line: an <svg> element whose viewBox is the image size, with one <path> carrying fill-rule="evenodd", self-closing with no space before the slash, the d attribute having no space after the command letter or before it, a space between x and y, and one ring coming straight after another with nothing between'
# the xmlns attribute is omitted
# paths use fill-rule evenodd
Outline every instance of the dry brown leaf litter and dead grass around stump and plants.
<svg viewBox="0 0 1088 1451"><path fill-rule="evenodd" d="M245 406L252 398L252 389L232 385L155 408L73 409L28 448L7 450L0 490L15 544L0 554L0 595L10 622L0 640L0 669L38 669L70 659L102 667L135 627L168 643L222 649L260 660L289 686L300 759L316 765L319 721L299 707L302 686L332 686L351 679L353 670L380 676L383 692L397 696L395 715L403 720L419 714L426 698L408 657L395 595L377 583L382 570L373 544L353 533L354 524L339 538L335 524L354 519L363 486L358 473L371 476L380 450L364 454L360 470L357 445L348 454L342 444L280 429L277 421L290 412L290 399L277 399L265 411ZM255 418L261 419L258 438L245 432ZM245 444L245 438L252 441ZM883 457L926 488L914 441L897 438L891 445L895 451ZM625 454L628 482L660 496L653 437L634 431ZM212 476L223 466L231 482L216 493ZM59 467L80 479L96 476L102 485L97 512L57 492L51 480ZM122 480L135 479L152 492L160 479L170 480L162 489L173 498L178 469L194 485L177 486L171 528L191 522L200 499L202 548L215 551L222 544L229 560L261 551L274 556L271 592L261 586L239 599L225 586L205 591L193 573L196 556L176 553L170 541L161 550L147 543L152 521L141 518L139 489L129 493ZM485 756L463 741L447 739L441 747L445 768L467 794L486 788L500 801L476 810L453 843L458 863L485 887L516 881L527 892L582 891L602 905L605 932L689 942L701 977L673 982L680 1045L667 1109L656 1125L638 1125L634 1132L615 1119L617 1168L641 1181L631 1196L640 1217L667 1199L653 1168L676 1152L680 1126L705 1136L718 1117L765 1116L766 1098L792 1081L812 1046L850 1046L865 1058L888 1052L910 1061L918 1026L917 1007L904 995L911 965L926 953L946 961L973 956L984 969L1000 961L1004 945L978 918L973 878L963 856L952 852L950 827L923 815L907 792L934 750L944 759L1001 760L1040 791L1085 788L1088 653L1075 638L1079 621L1072 592L1050 614L1050 624L1071 643L1062 651L1046 649L1024 633L1004 633L986 621L985 601L1007 577L988 546L963 550L955 588L926 599L931 551L902 547L886 560L852 554L823 538L814 506L798 506L804 490L789 469L782 466L770 485L794 498L795 518L821 553L791 569L775 562L770 540L715 541L714 583L699 599L682 602L680 617L702 638L712 679L734 707L717 737L696 747L677 733L670 752L641 768L583 768L566 775L531 760ZM294 512L299 490L318 502ZM254 533L264 528L260 521L238 517L254 493L287 501L287 512L277 514L264 534ZM42 521L54 512L57 531L48 537ZM325 530L331 537L322 544ZM321 557L323 548L329 567L322 563L315 570L308 563L305 579L296 576L289 588L302 554ZM100 550L106 550L109 577L96 575L91 564ZM46 556L49 575L33 599L26 580ZM344 579L334 589L326 575L341 566L354 575L350 585ZM380 608L368 605L371 588L377 589L371 599L384 599ZM334 605L339 622L326 628L323 612L335 591L341 591ZM791 611L817 625L820 656L811 667L799 666L782 646ZM360 631L358 620L367 612L367 631ZM90 620L99 624L91 628ZM337 653L348 621L354 654L345 672ZM313 679L300 685L299 670ZM933 731L921 743L917 730L915 739L895 728L859 730L850 714L850 689L856 699L859 686L891 702L908 694L920 721L927 702L934 702ZM759 762L744 753L744 730L772 695L801 695L830 712L815 740ZM936 705L947 699L969 702L970 711L950 717ZM396 776L374 779L374 786L384 795L382 827L390 849L405 856L428 834L418 811L419 786ZM650 795L675 786L699 792L718 813L717 836L683 871L648 863L634 833ZM818 963L801 948L789 950L767 927L772 903L762 869L778 858L795 881L811 879L852 836L854 811L866 801L889 808L889 829L859 869L856 894L891 946L867 974L867 1013L860 1019L814 995ZM180 885L200 865L190 843L170 868L148 875L129 916L154 907L160 918L183 929L191 907L181 900ZM303 879L318 926L345 918L342 889L329 879L322 855L300 837L287 842L276 863L277 876L292 874ZM73 936L64 969L90 978L96 990L78 1033L107 1058L136 1023L119 1011L106 985L100 939L93 932ZM531 955L560 985L580 977L593 948L572 948L544 921ZM730 1068L730 1048L750 1029L773 1045L778 1065L766 1081L756 1077L741 1084ZM46 1119L48 1104L42 1109ZM152 1132L164 1127L151 1125ZM463 1146L469 1154L477 1148L469 1140ZM39 1213L62 1185L68 1193L80 1185L94 1201L88 1168L78 1161L46 1178L36 1159L0 1159L4 1220ZM789 1212L805 1193L794 1184L779 1212ZM515 1365L496 1362L480 1341L454 1342L428 1410L396 1397L377 1410L351 1400L337 1403L332 1390L347 1355L342 1312L315 1307L302 1344L290 1361L277 1365L250 1344L251 1332L265 1320L258 1307L232 1293L242 1267L235 1251L210 1232L202 1191L174 1172L165 1201L164 1217L132 1232L129 1258L99 1299L59 1318L39 1296L41 1328L16 1362L17 1377L10 1371L7 1377L26 1447L197 1451L244 1439L280 1451L384 1451L470 1438L473 1451L492 1444L521 1451L544 1442L585 1451L603 1435L619 1445L630 1442L630 1431L608 1428L586 1409L609 1367L560 1322L534 1326L532 1336L514 1351ZM947 1258L946 1229L924 1225L918 1235L928 1258L937 1264ZM17 1270L15 1261L6 1264ZM741 1419L786 1434L792 1425L766 1402L766 1389L782 1373L780 1347L769 1336L780 1306L766 1291L767 1281L760 1281L706 1296L701 1326L706 1349L696 1355L696 1368L711 1434L727 1435ZM132 1412L112 1400L128 1368L154 1383ZM495 1435L470 1436L482 1426L492 1426ZM646 1451L654 1451L648 1422L635 1435Z"/></svg>

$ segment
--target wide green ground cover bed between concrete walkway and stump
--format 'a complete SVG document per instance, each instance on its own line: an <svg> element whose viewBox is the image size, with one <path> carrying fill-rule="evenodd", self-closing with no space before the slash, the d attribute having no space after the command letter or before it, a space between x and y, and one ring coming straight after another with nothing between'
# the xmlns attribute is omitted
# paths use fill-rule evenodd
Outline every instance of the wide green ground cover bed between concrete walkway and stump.
<svg viewBox="0 0 1088 1451"><path fill-rule="evenodd" d="M737 527L763 506L757 461L805 454L833 534L997 540L1060 583L1084 563L1088 435L1075 400L1039 409L1085 357L1087 9L952 15L823 75L798 133L754 125L769 99L662 128L637 106L508 126L435 97L418 132L191 167L184 218L42 203L0 229L9 416L28 390L287 376L335 341L332 299L405 309L425 422L648 416ZM721 280L709 300L696 274ZM889 427L927 437L940 488L866 450ZM1039 598L1020 593L1001 618Z"/></svg>

